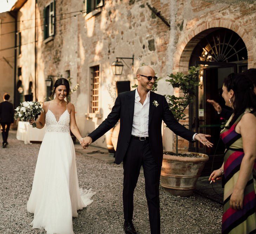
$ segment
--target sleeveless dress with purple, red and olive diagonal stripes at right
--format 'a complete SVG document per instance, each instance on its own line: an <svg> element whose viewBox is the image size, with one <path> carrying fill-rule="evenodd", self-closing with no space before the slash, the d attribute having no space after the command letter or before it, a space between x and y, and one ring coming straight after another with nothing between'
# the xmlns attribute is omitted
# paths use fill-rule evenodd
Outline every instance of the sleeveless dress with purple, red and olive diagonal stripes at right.
<svg viewBox="0 0 256 234"><path fill-rule="evenodd" d="M239 116L230 129L224 128L221 131L221 138L226 146L224 156L225 186L222 217L223 234L256 233L256 162L254 163L254 168L252 169L250 178L244 189L243 209L235 210L229 205L230 197L236 185L244 156L242 136L235 132L235 127L241 120L243 114ZM254 115L256 116L256 112ZM228 126L232 116L226 126Z"/></svg>

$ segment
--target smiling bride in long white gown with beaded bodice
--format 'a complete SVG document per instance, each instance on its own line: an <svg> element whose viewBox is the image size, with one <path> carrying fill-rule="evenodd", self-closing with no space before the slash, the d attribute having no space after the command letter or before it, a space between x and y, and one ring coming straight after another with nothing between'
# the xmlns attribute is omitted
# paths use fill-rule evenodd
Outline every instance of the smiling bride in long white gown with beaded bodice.
<svg viewBox="0 0 256 234"><path fill-rule="evenodd" d="M58 79L54 84L55 98L44 102L39 121L29 121L30 124L35 122L39 129L46 125L27 210L34 214L33 228L44 228L47 234L73 234L72 216L77 217L78 209L90 205L95 194L91 189L78 186L70 130L79 141L82 136L76 124L74 105L64 100L69 92L68 81Z"/></svg>

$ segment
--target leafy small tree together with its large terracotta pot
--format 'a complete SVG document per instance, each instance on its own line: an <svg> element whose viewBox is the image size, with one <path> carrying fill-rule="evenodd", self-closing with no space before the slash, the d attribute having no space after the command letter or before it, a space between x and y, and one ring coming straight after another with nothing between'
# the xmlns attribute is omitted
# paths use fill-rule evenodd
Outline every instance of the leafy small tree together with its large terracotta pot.
<svg viewBox="0 0 256 234"><path fill-rule="evenodd" d="M182 95L165 95L172 114L179 122L186 120L185 109L193 102L196 88L199 86L198 71L200 67L190 67L188 74L177 72L168 75L166 79L173 88L179 88ZM186 126L185 124L183 124ZM201 175L208 155L193 152L178 152L178 136L176 135L176 152L164 152L161 169L161 186L165 192L172 195L190 196L196 188L196 182Z"/></svg>

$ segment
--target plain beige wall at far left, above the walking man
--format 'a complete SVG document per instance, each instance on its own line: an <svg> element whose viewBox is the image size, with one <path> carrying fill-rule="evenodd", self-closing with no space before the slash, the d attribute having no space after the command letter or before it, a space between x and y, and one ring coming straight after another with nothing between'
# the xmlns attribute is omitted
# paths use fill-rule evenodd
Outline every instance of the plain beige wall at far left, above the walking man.
<svg viewBox="0 0 256 234"><path fill-rule="evenodd" d="M14 18L8 13L0 14L0 101L4 93L11 95L10 101L14 101L14 42L15 31ZM12 47L12 48L10 48ZM6 49L10 48L10 49ZM6 61L5 59L8 61ZM9 64L8 64L9 63Z"/></svg>

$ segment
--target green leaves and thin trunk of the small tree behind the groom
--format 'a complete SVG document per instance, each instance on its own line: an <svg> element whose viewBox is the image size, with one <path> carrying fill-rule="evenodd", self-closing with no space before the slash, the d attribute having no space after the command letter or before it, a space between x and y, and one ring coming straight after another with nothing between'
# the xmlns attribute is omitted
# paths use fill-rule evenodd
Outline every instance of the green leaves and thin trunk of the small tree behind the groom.
<svg viewBox="0 0 256 234"><path fill-rule="evenodd" d="M189 68L188 74L185 75L182 72L177 74L168 75L170 79L165 81L169 82L173 88L179 88L184 94L181 97L175 95L165 95L165 98L169 104L170 110L174 115L175 119L179 122L180 120L186 120L184 111L186 107L193 102L193 97L196 95L196 88L199 86L198 71L201 67L192 66ZM183 125L187 126L187 125ZM178 154L178 136L176 135L176 154Z"/></svg>

